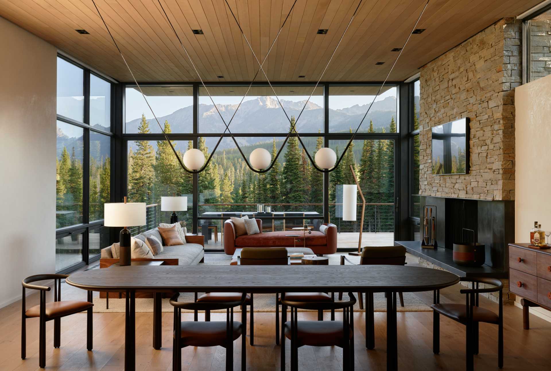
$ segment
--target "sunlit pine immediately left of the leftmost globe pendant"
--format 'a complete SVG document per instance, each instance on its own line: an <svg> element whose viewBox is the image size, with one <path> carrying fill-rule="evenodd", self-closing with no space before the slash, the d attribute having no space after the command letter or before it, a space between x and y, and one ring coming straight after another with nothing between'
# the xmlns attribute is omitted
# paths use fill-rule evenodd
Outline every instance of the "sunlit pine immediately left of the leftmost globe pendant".
<svg viewBox="0 0 551 371"><path fill-rule="evenodd" d="M165 121L165 133L171 133L170 124ZM172 142L173 146L176 143ZM155 189L157 197L172 196L179 193L180 169L181 166L176 159L170 143L168 141L157 141L157 150L155 153Z"/></svg>

